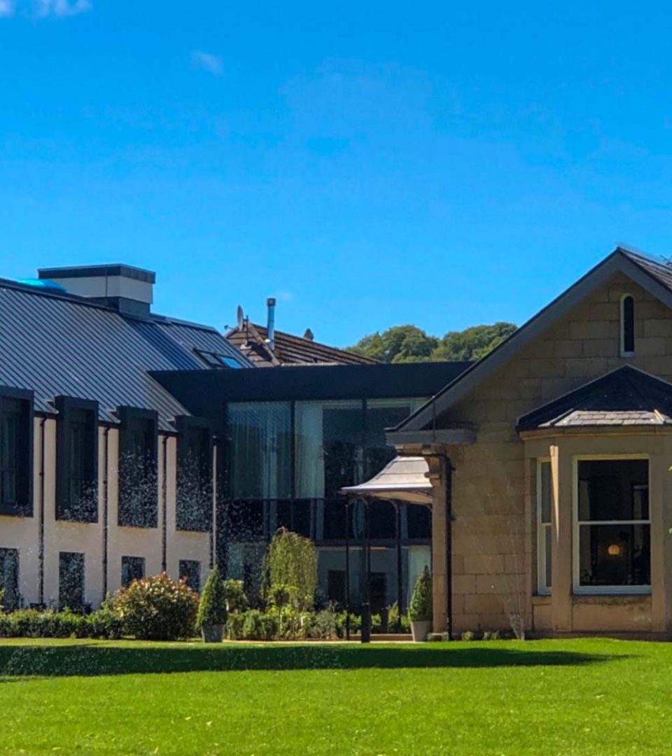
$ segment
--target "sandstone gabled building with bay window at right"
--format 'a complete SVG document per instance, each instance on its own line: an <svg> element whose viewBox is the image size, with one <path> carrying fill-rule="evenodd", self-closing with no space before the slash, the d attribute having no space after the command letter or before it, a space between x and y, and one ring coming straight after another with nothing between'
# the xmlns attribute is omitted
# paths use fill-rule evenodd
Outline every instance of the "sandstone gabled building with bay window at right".
<svg viewBox="0 0 672 756"><path fill-rule="evenodd" d="M670 307L618 248L388 433L429 464L436 632L672 633Z"/></svg>

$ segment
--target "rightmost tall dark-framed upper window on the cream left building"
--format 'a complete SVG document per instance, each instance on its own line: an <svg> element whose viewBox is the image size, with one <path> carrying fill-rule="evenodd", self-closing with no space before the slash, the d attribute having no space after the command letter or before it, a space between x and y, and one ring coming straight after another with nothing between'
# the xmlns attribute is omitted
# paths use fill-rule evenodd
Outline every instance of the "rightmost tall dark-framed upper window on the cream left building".
<svg viewBox="0 0 672 756"><path fill-rule="evenodd" d="M191 417L178 419L178 530L212 528L212 431Z"/></svg>

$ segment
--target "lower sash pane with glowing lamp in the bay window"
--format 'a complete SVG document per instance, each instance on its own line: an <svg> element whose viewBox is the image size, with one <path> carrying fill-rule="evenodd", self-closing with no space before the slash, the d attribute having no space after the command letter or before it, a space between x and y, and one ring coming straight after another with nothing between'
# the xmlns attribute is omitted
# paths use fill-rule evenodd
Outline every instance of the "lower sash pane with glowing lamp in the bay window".
<svg viewBox="0 0 672 756"><path fill-rule="evenodd" d="M581 585L651 584L650 525L581 525L579 553Z"/></svg>

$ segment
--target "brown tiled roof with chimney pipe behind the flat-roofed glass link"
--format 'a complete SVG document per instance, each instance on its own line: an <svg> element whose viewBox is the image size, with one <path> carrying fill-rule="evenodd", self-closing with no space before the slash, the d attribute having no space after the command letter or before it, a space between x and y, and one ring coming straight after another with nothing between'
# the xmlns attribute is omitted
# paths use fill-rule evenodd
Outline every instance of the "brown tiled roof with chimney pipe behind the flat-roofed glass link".
<svg viewBox="0 0 672 756"><path fill-rule="evenodd" d="M226 335L228 341L255 364L255 367L278 367L279 365L375 365L376 360L355 355L345 349L321 344L311 339L302 339L283 331L275 332L275 348L266 343L268 330L265 326L248 323L242 328L232 328Z"/></svg>

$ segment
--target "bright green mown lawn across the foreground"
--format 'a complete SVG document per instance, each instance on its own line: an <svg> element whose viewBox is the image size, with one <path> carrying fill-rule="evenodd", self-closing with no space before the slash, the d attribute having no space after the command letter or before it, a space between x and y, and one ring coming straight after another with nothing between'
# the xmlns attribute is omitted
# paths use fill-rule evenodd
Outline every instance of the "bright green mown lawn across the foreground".
<svg viewBox="0 0 672 756"><path fill-rule="evenodd" d="M0 642L2 754L668 754L672 646Z"/></svg>

